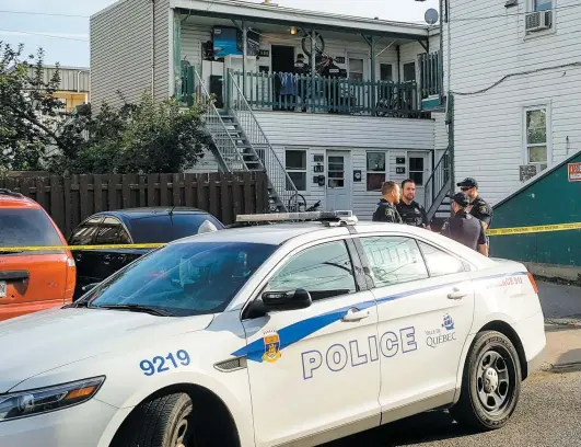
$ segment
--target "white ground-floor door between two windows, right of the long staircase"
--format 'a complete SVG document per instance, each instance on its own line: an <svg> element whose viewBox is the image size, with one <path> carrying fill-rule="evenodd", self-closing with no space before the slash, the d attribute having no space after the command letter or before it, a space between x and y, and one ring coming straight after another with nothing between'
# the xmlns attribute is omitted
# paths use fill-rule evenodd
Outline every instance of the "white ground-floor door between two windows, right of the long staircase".
<svg viewBox="0 0 581 447"><path fill-rule="evenodd" d="M327 151L327 210L351 209L351 153Z"/></svg>

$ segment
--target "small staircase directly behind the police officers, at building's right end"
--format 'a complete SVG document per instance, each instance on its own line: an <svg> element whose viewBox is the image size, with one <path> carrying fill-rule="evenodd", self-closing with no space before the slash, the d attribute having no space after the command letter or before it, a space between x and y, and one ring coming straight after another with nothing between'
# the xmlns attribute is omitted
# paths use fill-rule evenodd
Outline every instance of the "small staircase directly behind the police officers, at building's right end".
<svg viewBox="0 0 581 447"><path fill-rule="evenodd" d="M432 229L439 230L450 217L452 176L450 175L450 149L446 149L426 182L425 208Z"/></svg>

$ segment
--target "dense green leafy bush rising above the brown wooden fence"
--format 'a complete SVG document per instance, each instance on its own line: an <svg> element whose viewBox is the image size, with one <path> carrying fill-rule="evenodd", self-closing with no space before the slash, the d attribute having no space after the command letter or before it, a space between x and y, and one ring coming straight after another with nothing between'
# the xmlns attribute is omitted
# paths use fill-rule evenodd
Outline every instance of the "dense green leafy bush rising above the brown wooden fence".
<svg viewBox="0 0 581 447"><path fill-rule="evenodd" d="M204 126L207 104L185 108L174 99L155 103L143 93L138 104L80 114L63 126L66 135L85 128L89 138L50 158L50 170L70 173L178 172L194 167L210 144ZM69 128L70 127L70 128Z"/></svg>

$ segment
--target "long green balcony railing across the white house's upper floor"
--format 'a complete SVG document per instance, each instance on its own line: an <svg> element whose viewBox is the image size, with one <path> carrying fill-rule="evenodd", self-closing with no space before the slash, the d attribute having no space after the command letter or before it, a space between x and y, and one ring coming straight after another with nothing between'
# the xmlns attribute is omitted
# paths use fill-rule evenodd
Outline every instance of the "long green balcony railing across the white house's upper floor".
<svg viewBox="0 0 581 447"><path fill-rule="evenodd" d="M345 78L292 73L232 71L237 85L245 84L245 98L254 111L310 111L347 115L428 117L418 104L415 82L360 81ZM228 91L232 91L230 82ZM226 94L226 103L231 95ZM233 106L234 104L229 104Z"/></svg>

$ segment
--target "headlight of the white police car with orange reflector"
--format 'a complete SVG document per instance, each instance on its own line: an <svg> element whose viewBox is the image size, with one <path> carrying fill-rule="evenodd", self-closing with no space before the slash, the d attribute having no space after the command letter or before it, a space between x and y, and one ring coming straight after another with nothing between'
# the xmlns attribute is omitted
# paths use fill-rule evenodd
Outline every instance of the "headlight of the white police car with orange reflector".
<svg viewBox="0 0 581 447"><path fill-rule="evenodd" d="M35 390L0 394L0 423L66 409L90 400L105 377L94 377Z"/></svg>

